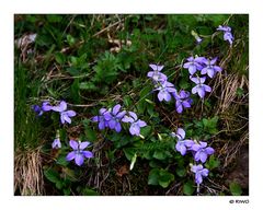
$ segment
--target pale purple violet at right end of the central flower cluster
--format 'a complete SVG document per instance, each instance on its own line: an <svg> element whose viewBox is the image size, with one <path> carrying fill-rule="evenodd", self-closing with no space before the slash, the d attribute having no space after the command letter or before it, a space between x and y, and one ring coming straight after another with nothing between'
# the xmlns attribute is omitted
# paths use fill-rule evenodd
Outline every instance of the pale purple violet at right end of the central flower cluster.
<svg viewBox="0 0 263 210"><path fill-rule="evenodd" d="M125 115L122 121L130 122L129 132L130 135L140 136L140 128L147 126L144 120L138 119L134 112L128 112L129 116Z"/></svg>

